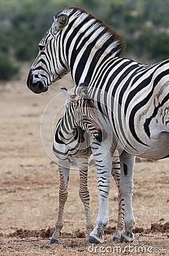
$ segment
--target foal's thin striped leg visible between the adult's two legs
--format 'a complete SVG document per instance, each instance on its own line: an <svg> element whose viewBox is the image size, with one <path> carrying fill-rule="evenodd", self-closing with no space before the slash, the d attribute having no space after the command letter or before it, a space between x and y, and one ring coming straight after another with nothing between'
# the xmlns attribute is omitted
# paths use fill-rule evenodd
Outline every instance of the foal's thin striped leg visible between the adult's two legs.
<svg viewBox="0 0 169 256"><path fill-rule="evenodd" d="M120 240L120 233L121 233L121 230L124 228L124 198L122 197L122 194L120 191L120 160L119 160L119 156L115 161L113 160L112 176L117 185L118 199L119 199L117 228L116 228L116 232L112 238L112 241L114 242L116 240Z"/></svg>

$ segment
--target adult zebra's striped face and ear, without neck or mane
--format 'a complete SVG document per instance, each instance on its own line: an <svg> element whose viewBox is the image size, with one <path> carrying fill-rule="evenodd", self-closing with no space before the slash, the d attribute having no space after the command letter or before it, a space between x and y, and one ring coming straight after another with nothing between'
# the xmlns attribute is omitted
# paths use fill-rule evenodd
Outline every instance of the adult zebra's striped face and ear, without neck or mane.
<svg viewBox="0 0 169 256"><path fill-rule="evenodd" d="M60 44L61 31L68 22L66 14L54 17L54 23L39 43L39 53L28 74L27 86L33 93L47 92L48 86L69 73Z"/></svg>

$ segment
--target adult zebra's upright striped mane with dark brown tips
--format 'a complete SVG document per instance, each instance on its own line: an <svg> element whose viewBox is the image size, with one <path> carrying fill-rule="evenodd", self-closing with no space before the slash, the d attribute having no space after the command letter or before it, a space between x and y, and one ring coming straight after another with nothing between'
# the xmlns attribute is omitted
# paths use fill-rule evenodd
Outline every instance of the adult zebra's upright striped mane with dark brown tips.
<svg viewBox="0 0 169 256"><path fill-rule="evenodd" d="M57 16L61 14L66 14L69 17L68 26L70 23L71 27L79 26L79 33L84 33L85 38L88 36L89 42L95 40L95 47L102 49L105 53L111 53L113 57L116 57L125 49L122 37L86 10L79 7L68 7L59 11L54 19L57 19Z"/></svg>

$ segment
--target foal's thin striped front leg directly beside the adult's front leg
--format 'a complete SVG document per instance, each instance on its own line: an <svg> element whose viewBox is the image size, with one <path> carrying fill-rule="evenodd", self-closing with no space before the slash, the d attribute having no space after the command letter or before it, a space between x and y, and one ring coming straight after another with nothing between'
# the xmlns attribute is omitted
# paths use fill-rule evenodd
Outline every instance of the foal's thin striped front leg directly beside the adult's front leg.
<svg viewBox="0 0 169 256"><path fill-rule="evenodd" d="M84 210L86 214L86 231L88 238L90 233L94 229L90 214L90 194L87 187L88 158L79 158L78 167L80 176L79 197L84 205Z"/></svg>

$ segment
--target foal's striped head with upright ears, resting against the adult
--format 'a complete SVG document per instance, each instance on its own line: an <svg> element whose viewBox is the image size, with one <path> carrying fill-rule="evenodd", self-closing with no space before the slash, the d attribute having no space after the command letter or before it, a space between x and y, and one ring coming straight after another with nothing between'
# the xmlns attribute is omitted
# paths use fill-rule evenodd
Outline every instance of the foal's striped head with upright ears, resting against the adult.
<svg viewBox="0 0 169 256"><path fill-rule="evenodd" d="M69 123L73 123L73 129L80 127L83 131L87 131L94 136L97 141L102 142L106 138L105 131L100 125L98 119L98 110L94 102L88 96L86 84L80 84L79 94L74 94L72 91L67 91L65 87L61 87L65 95L66 119Z"/></svg>

